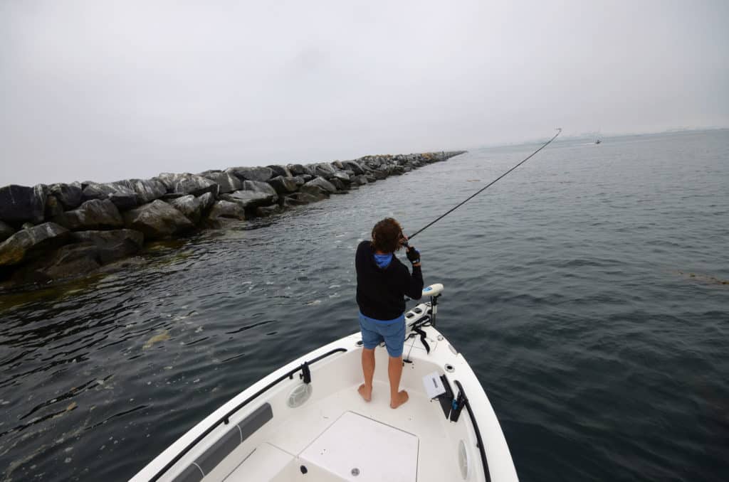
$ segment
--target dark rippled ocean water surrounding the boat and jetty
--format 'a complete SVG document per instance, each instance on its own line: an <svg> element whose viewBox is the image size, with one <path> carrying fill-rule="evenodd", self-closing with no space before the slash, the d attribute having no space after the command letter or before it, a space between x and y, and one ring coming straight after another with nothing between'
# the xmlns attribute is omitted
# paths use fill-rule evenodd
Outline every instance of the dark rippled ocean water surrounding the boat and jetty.
<svg viewBox="0 0 729 482"><path fill-rule="evenodd" d="M477 149L106 276L0 294L0 480L123 481L356 331L354 248L536 146ZM522 481L729 476L729 131L560 141L413 240Z"/></svg>

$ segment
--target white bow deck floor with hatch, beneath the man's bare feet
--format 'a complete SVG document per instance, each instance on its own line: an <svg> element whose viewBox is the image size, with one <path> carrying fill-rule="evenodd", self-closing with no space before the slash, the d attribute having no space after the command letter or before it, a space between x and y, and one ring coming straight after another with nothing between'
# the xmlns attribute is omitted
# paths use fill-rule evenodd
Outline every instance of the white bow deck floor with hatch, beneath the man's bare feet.
<svg viewBox="0 0 729 482"><path fill-rule="evenodd" d="M359 395L361 382L356 382L307 403L296 416L269 430L268 437L252 454L234 451L203 481L461 479L455 463L455 443L448 444L452 450L443 454L448 434L440 404L427 398L422 385L417 387L421 381L415 379L414 370L408 374L405 366L401 387L408 390L410 399L397 409L390 408L389 382L378 379L378 374L386 377L387 360L378 357L377 361L370 402ZM451 460L444 463L443 458L449 456ZM306 473L302 473L302 466ZM427 477L418 477L418 473L426 473Z"/></svg>

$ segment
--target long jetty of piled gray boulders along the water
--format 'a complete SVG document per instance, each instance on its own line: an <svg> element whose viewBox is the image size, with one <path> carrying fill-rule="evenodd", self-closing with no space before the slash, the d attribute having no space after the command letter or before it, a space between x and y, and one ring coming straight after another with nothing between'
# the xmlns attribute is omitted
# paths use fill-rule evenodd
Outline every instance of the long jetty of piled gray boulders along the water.
<svg viewBox="0 0 729 482"><path fill-rule="evenodd" d="M0 188L0 282L91 274L144 242L271 216L464 151Z"/></svg>

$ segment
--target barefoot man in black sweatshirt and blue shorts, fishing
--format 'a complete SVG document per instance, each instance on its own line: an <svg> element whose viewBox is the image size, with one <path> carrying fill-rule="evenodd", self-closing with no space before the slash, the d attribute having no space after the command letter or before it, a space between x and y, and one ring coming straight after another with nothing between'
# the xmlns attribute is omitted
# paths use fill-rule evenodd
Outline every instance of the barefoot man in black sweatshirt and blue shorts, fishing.
<svg viewBox="0 0 729 482"><path fill-rule="evenodd" d="M408 246L406 256L413 264L410 274L407 266L394 255L408 246L408 238L393 218L375 224L372 240L357 246L355 267L357 272L357 304L359 328L362 331L362 373L364 384L359 395L372 400L372 379L375 374L375 347L385 342L389 362L390 407L397 408L408 401L408 392L399 390L402 376L402 346L405 344L405 296L421 299L423 273L420 253Z"/></svg>

